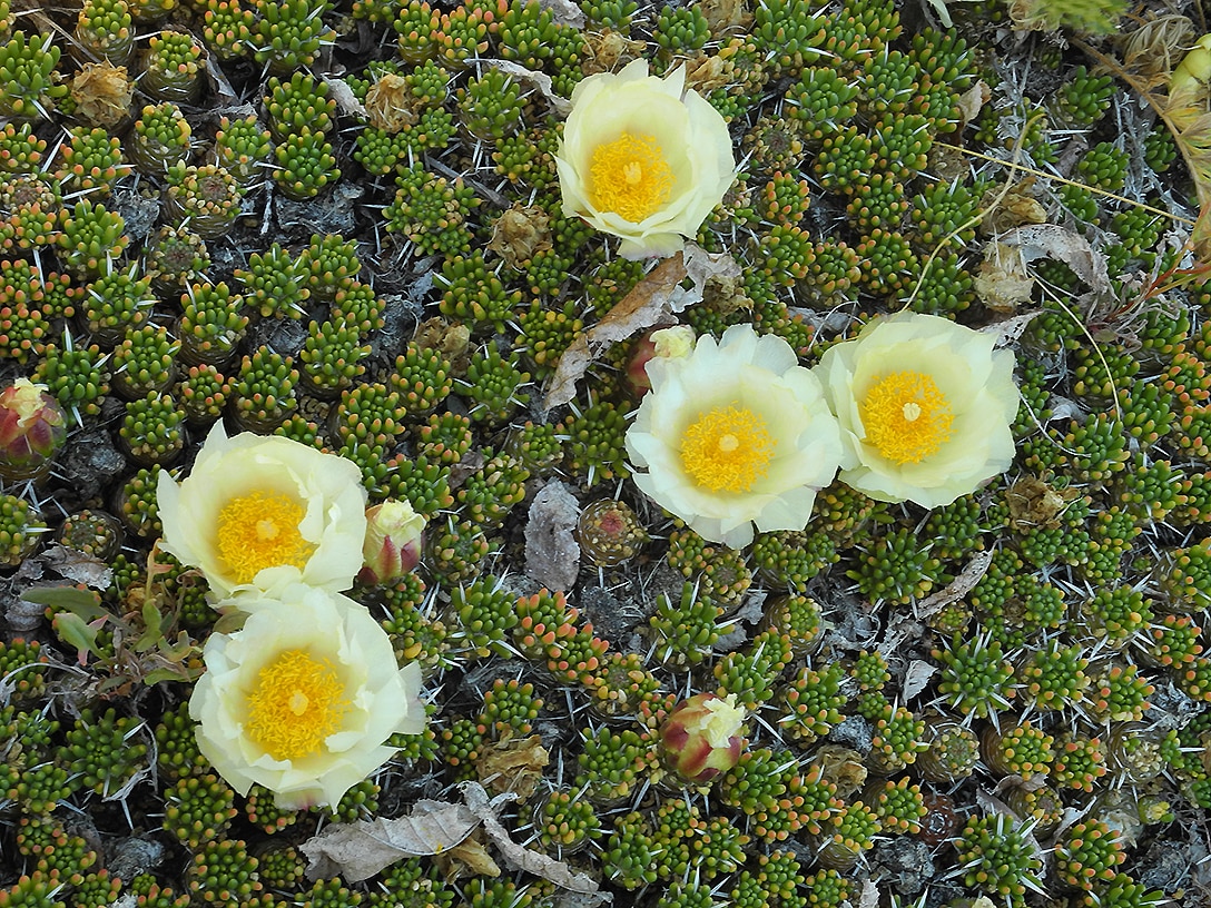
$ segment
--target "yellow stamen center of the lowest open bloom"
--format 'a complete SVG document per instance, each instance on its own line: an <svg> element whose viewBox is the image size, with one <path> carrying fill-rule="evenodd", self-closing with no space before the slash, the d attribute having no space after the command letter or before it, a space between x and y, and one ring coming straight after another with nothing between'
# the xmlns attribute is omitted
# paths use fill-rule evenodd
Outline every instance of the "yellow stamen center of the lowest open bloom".
<svg viewBox="0 0 1211 908"><path fill-rule="evenodd" d="M320 751L340 729L349 699L332 663L292 649L257 676L245 731L275 760L297 760Z"/></svg>

